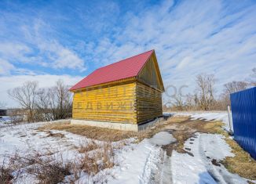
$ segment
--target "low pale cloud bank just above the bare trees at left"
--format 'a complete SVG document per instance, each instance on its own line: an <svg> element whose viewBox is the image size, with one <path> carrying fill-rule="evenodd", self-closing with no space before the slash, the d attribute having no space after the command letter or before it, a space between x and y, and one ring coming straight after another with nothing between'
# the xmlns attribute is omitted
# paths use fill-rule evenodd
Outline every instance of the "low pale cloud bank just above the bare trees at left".
<svg viewBox="0 0 256 184"><path fill-rule="evenodd" d="M8 107L19 106L13 99L10 99L8 96L8 90L22 85L25 81L38 81L40 88L50 87L55 85L56 81L62 79L66 85L75 85L82 78L79 76L70 76L70 75L13 75L0 77L0 102L4 102Z"/></svg>

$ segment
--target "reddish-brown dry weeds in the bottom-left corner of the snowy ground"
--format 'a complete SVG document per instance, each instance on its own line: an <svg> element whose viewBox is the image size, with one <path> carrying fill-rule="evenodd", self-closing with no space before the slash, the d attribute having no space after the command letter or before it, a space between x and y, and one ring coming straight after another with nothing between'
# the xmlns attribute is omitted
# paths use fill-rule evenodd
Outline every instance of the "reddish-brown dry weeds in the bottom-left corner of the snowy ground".
<svg viewBox="0 0 256 184"><path fill-rule="evenodd" d="M42 157L39 152L22 156L16 153L9 156L8 160L8 164L0 166L0 183L13 183L20 175L33 175L40 183L52 184L62 182L65 175L71 174L71 164L63 164L53 157Z"/></svg>

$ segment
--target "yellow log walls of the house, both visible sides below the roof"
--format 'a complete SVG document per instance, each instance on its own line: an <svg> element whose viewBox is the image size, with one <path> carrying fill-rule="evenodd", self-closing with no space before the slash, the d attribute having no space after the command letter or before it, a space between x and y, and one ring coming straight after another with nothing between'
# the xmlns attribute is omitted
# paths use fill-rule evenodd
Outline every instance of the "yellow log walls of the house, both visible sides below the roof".
<svg viewBox="0 0 256 184"><path fill-rule="evenodd" d="M138 81L74 93L73 119L140 124L162 115L162 93Z"/></svg>

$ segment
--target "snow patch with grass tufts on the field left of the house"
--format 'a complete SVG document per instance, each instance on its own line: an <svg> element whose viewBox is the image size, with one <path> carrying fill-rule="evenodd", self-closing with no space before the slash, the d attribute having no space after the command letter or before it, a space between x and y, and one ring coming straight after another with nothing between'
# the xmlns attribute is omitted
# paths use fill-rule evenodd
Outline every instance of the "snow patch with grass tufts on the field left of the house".
<svg viewBox="0 0 256 184"><path fill-rule="evenodd" d="M61 122L65 121L69 120L61 120ZM55 121L54 123L59 122ZM3 163L6 155L19 153L25 156L27 153L33 153L33 151L38 151L42 155L49 155L48 153L51 151L53 154L50 157L57 161L62 161L64 164L78 158L81 154L75 149L75 146L79 146L81 143L88 143L90 139L69 132L51 130L53 134L64 134L64 138L53 137L49 136L49 132L37 130L38 127L48 123L19 124L0 128L0 163ZM20 179L20 182L18 179L16 183L35 182L35 177L26 175L23 179Z"/></svg>

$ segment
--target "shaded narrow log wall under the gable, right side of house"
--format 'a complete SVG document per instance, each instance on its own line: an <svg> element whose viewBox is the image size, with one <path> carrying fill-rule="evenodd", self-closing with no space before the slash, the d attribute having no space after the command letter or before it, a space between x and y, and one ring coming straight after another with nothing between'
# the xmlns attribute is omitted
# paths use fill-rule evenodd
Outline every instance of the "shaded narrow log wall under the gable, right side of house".
<svg viewBox="0 0 256 184"><path fill-rule="evenodd" d="M163 116L162 92L137 82L137 124Z"/></svg>

